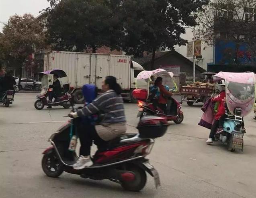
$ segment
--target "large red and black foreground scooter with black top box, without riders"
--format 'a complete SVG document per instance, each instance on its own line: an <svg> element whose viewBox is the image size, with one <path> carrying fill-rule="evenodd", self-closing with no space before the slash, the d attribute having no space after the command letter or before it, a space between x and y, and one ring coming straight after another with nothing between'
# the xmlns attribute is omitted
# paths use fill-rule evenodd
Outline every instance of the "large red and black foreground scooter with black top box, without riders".
<svg viewBox="0 0 256 198"><path fill-rule="evenodd" d="M73 102L72 110L76 111ZM166 118L143 117L137 126L138 134L123 134L109 141L106 147L98 148L92 158L92 166L74 170L73 164L78 156L75 149L69 148L72 145L71 136L77 134L80 122L81 118L73 118L49 138L52 146L43 152L42 159L42 168L47 176L55 178L65 171L92 180L108 179L121 184L125 190L137 192L145 186L148 172L154 177L156 188L160 186L158 172L145 157L150 154L154 139L166 133Z"/></svg>

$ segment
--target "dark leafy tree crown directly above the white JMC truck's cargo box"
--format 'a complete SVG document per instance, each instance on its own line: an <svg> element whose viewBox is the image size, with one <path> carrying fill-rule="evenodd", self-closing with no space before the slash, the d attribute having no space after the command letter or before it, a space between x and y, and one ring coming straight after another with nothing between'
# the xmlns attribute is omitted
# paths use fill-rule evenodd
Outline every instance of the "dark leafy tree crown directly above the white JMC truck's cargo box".
<svg viewBox="0 0 256 198"><path fill-rule="evenodd" d="M50 0L47 38L54 50L83 52L101 46L120 49L123 25L116 14L121 0Z"/></svg>

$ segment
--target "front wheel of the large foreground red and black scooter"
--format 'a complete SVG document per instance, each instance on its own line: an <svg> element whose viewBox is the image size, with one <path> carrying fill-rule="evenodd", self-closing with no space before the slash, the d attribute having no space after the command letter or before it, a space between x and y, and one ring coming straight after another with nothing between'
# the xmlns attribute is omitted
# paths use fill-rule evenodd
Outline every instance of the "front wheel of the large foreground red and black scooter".
<svg viewBox="0 0 256 198"><path fill-rule="evenodd" d="M42 168L48 177L58 177L63 173L63 165L59 162L55 152L43 156Z"/></svg>

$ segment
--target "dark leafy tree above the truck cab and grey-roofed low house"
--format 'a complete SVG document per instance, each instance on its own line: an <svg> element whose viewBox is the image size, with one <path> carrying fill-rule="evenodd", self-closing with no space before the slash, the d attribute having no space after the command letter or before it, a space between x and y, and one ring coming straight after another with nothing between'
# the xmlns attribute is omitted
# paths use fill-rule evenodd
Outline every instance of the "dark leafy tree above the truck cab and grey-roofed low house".
<svg viewBox="0 0 256 198"><path fill-rule="evenodd" d="M173 49L184 45L184 26L195 26L197 12L207 0L125 0L121 14L124 19L125 37L123 50L137 57L143 52L154 53L161 48Z"/></svg>

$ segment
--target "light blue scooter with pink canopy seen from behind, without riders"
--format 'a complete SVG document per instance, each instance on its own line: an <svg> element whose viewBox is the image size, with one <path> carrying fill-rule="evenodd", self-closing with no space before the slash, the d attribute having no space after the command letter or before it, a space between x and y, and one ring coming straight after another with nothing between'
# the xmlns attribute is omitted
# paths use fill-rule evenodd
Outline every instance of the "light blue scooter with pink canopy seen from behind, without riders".
<svg viewBox="0 0 256 198"><path fill-rule="evenodd" d="M213 80L225 80L226 84L226 104L229 114L223 124L224 132L215 134L215 138L227 144L229 151L243 151L244 133L241 125L244 116L250 114L254 108L255 79L253 72L219 72L213 76Z"/></svg>

